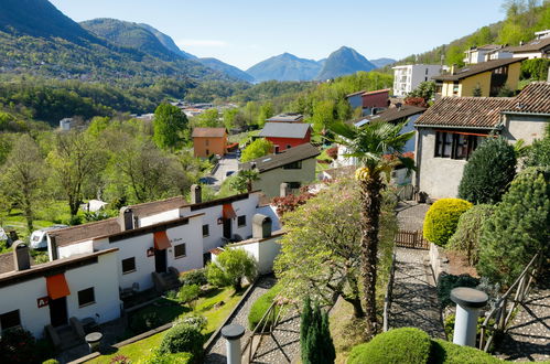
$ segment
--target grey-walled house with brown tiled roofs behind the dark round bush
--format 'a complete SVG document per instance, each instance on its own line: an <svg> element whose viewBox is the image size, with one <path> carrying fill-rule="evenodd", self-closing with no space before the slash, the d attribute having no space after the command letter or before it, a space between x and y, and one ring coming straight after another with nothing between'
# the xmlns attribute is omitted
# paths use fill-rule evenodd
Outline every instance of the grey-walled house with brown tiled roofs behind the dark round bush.
<svg viewBox="0 0 550 364"><path fill-rule="evenodd" d="M454 197L466 161L490 135L530 144L550 122L550 83L516 97L444 97L417 119L414 184L434 199Z"/></svg>

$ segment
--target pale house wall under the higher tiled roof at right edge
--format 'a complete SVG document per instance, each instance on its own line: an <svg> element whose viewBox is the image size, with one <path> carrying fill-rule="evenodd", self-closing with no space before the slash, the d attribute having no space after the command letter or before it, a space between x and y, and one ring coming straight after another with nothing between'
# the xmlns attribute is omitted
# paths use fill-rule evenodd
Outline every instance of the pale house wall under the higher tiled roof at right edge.
<svg viewBox="0 0 550 364"><path fill-rule="evenodd" d="M549 116L509 114L505 117L503 136L510 142L524 139L527 144L531 144L535 139L543 138L549 122Z"/></svg>

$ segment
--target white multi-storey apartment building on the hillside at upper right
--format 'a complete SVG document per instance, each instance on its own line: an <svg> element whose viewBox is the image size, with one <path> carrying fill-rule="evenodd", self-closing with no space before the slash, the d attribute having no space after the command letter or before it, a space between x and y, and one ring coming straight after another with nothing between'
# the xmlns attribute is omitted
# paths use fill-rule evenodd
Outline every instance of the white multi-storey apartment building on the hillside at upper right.
<svg viewBox="0 0 550 364"><path fill-rule="evenodd" d="M441 73L436 64L409 64L393 67L393 95L405 97L422 82Z"/></svg>

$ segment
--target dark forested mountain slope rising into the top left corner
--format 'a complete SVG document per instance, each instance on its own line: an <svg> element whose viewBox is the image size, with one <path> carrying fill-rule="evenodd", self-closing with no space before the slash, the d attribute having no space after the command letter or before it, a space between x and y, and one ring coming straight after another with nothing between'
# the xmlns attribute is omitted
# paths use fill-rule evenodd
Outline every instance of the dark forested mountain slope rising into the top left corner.
<svg viewBox="0 0 550 364"><path fill-rule="evenodd" d="M0 72L109 82L228 78L194 61L99 39L46 0L0 1Z"/></svg>

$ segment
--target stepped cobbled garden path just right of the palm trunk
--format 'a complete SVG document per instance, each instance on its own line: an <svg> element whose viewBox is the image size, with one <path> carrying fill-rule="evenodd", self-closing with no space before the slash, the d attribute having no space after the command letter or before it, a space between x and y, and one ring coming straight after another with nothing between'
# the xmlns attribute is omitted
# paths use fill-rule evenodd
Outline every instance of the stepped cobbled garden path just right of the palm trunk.
<svg viewBox="0 0 550 364"><path fill-rule="evenodd" d="M445 339L435 282L428 260L428 250L396 248L389 326L418 328L432 338Z"/></svg>

